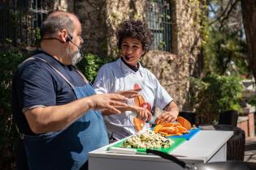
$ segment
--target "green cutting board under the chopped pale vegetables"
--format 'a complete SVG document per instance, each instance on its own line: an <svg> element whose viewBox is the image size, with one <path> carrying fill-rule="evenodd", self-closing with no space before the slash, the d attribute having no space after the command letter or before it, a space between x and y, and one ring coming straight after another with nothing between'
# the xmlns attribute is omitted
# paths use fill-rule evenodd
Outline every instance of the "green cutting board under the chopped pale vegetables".
<svg viewBox="0 0 256 170"><path fill-rule="evenodd" d="M164 153L170 153L170 151L173 151L176 147L179 147L181 143L183 143L184 141L186 141L185 138L171 138L171 140L173 141L172 145L170 147L167 148L161 148L161 149L157 149L157 148L150 148L152 150L156 150L156 151L162 151ZM111 147L121 147L122 143L125 142L126 140L120 141L118 143L116 143L115 145L111 146ZM109 149L111 147L108 147L107 150L109 151ZM121 147L122 148L122 147ZM141 153L146 153L145 152L145 148L131 148L131 149L136 149L137 152L141 152Z"/></svg>

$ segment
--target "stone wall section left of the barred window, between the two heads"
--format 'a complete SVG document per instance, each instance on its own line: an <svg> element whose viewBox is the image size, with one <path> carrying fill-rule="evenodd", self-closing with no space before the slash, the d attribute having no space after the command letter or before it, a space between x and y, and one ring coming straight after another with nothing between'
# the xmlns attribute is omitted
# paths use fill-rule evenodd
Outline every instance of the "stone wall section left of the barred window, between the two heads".
<svg viewBox="0 0 256 170"><path fill-rule="evenodd" d="M88 0L75 4L80 18L86 52L116 56L115 32L124 19L142 19L145 0Z"/></svg>

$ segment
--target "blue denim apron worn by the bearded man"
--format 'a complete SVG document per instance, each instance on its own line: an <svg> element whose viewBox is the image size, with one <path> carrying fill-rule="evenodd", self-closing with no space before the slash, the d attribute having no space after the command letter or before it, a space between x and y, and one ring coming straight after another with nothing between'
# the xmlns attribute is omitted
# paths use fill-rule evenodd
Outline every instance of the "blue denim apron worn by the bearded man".
<svg viewBox="0 0 256 170"><path fill-rule="evenodd" d="M51 66L48 62L46 64ZM63 74L51 67L72 87L77 99L95 94L89 83L84 87L74 87ZM23 134L23 138L28 167L32 170L87 169L89 151L109 143L102 113L96 110L89 110L65 130L36 136Z"/></svg>

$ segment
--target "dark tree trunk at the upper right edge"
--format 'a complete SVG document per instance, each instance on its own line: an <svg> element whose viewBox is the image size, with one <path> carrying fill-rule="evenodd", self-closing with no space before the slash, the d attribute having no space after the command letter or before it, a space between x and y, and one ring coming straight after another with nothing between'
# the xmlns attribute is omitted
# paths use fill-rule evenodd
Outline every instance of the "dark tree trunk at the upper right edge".
<svg viewBox="0 0 256 170"><path fill-rule="evenodd" d="M241 0L241 13L247 40L249 67L256 79L256 1Z"/></svg>

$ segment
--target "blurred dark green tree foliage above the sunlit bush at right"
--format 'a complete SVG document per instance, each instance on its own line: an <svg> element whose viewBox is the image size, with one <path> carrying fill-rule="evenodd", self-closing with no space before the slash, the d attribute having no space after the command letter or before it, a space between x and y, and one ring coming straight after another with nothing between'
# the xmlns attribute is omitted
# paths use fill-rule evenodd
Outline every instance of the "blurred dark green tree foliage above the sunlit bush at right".
<svg viewBox="0 0 256 170"><path fill-rule="evenodd" d="M206 45L203 46L205 56L205 72L232 75L249 74L249 66L245 60L246 44L236 32L220 32L210 30Z"/></svg>

